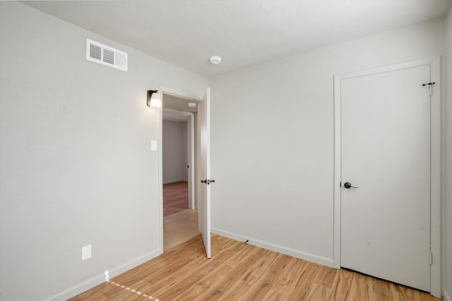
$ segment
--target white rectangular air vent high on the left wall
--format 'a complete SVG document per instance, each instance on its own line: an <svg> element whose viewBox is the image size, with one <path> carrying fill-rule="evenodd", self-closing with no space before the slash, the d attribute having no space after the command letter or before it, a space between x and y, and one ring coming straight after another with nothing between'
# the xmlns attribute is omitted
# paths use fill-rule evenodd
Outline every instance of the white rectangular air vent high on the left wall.
<svg viewBox="0 0 452 301"><path fill-rule="evenodd" d="M86 59L127 71L127 54L112 47L86 39Z"/></svg>

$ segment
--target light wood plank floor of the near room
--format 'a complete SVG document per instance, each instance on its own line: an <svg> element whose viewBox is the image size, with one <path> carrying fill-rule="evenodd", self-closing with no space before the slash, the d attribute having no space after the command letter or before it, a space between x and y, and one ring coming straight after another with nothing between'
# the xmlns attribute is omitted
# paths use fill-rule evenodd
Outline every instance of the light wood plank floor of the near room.
<svg viewBox="0 0 452 301"><path fill-rule="evenodd" d="M428 293L346 269L201 235L71 299L116 300L439 300Z"/></svg>

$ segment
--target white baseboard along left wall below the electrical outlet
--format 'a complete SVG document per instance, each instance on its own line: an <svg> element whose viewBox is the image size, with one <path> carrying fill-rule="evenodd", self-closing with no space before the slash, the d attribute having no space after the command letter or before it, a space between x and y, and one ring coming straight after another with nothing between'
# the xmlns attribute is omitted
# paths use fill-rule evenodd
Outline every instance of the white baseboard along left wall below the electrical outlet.
<svg viewBox="0 0 452 301"><path fill-rule="evenodd" d="M158 250L155 250L148 254L145 254L141 257L133 259L130 262L126 262L126 264L117 266L114 269L109 269L108 270L109 278L116 277L116 276L124 273L125 271L129 271L130 269L133 269L134 267L139 266L140 264L143 264L144 262L147 262L148 260L153 259L160 254L162 254L162 251L160 251L160 249L158 249ZM100 283L104 283L105 281L106 281L105 271L102 271L102 272L100 272L99 276L90 278L88 281L85 281L76 286L73 286L72 288L69 288L68 290L64 290L63 292L61 292L57 295L54 295L53 297L49 297L49 299L47 299L46 301L68 300L69 298L74 297L80 293L83 293L83 292L85 292L85 290L94 288L96 285L99 285Z"/></svg>

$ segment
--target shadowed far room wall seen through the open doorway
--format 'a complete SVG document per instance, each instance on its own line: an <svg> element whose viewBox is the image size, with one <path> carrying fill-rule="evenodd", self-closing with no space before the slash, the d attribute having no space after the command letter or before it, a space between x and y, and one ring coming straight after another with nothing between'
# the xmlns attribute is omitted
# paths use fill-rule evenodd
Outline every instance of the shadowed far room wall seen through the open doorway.
<svg viewBox="0 0 452 301"><path fill-rule="evenodd" d="M163 184L188 180L186 122L163 121Z"/></svg>

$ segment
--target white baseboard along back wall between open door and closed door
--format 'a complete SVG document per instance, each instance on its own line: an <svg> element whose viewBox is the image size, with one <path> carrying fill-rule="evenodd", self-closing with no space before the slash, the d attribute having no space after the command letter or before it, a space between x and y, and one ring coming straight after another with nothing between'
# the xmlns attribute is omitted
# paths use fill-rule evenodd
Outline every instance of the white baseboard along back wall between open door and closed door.
<svg viewBox="0 0 452 301"><path fill-rule="evenodd" d="M263 242L261 240L255 240L253 238L244 237L242 235L236 234L236 233L230 233L227 231L222 231L217 228L212 228L212 233L225 236L226 238L231 238L233 240L238 240L245 242L248 240L249 245L255 245L256 247L262 247L267 250L279 252L282 254L286 254L292 257L297 257L299 259L307 260L308 262L315 262L316 264L322 264L324 266L333 267L333 258L327 258L327 257L321 257L314 254L309 254L307 252L302 252L299 250L291 249L289 247L283 247L280 245L274 245L270 242Z"/></svg>

